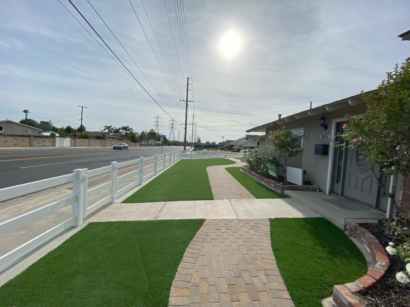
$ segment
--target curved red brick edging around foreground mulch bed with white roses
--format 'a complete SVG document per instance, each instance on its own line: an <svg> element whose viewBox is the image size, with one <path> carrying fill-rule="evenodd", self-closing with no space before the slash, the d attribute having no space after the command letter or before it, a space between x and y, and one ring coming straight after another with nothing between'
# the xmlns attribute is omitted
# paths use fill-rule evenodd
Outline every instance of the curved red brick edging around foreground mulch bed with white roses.
<svg viewBox="0 0 410 307"><path fill-rule="evenodd" d="M389 268L389 257L378 239L369 231L360 227L357 223L346 222L346 231L349 235L356 237L364 248L370 252L376 265L366 275L354 282L339 284L333 287L333 301L338 307L364 307L356 294L363 294L365 291L373 289L380 278Z"/></svg>

